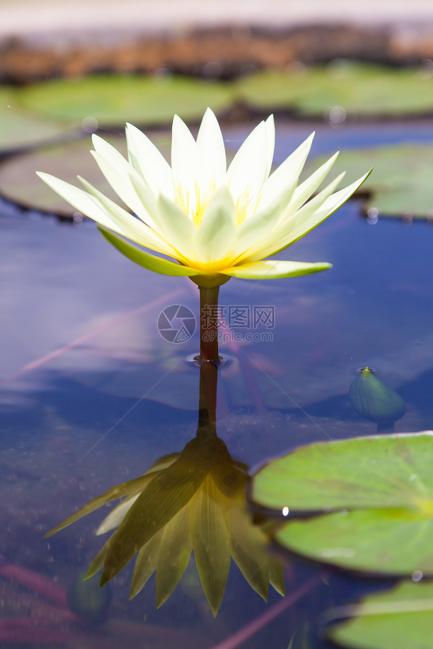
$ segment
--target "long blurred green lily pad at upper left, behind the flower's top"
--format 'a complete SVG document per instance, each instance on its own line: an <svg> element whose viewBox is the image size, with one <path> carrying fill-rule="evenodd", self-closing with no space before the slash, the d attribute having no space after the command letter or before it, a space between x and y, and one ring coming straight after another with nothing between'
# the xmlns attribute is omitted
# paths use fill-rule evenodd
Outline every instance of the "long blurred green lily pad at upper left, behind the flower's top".
<svg viewBox="0 0 433 649"><path fill-rule="evenodd" d="M100 75L61 79L23 88L19 99L30 110L81 123L94 117L100 127L171 123L200 119L207 106L221 112L231 103L227 84L184 77Z"/></svg>

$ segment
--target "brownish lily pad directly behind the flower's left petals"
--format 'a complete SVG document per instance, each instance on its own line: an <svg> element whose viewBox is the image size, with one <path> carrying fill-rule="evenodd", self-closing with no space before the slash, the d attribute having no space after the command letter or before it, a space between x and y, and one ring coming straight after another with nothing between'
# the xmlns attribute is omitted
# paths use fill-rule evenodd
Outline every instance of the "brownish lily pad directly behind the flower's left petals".
<svg viewBox="0 0 433 649"><path fill-rule="evenodd" d="M168 157L171 135L160 132L154 133L152 138L160 151ZM124 136L104 136L104 139L126 156L127 147ZM123 208L128 209L105 180L90 154L91 149L93 149L93 145L89 137L8 158L0 165L0 193L9 201L16 202L25 208L34 208L42 212L71 218L77 210L60 198L45 182L42 182L35 172L45 171L81 187L77 180L79 174L105 193L112 201L116 201Z"/></svg>

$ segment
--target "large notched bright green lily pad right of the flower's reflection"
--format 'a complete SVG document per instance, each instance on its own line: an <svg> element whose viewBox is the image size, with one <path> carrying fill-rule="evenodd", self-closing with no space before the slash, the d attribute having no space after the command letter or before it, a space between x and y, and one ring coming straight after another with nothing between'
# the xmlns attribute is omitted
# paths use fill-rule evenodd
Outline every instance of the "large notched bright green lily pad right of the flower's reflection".
<svg viewBox="0 0 433 649"><path fill-rule="evenodd" d="M256 474L271 508L328 512L288 522L276 538L355 570L433 574L433 433L376 435L301 447Z"/></svg>

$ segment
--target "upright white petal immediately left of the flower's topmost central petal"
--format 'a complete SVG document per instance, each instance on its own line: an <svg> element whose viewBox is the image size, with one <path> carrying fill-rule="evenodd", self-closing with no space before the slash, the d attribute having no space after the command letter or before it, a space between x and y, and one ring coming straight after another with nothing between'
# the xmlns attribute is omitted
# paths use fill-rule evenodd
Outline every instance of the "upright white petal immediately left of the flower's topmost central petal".
<svg viewBox="0 0 433 649"><path fill-rule="evenodd" d="M173 118L173 139L171 141L171 169L175 184L175 195L180 209L193 217L197 208L195 191L199 179L199 151L190 129L182 119Z"/></svg>

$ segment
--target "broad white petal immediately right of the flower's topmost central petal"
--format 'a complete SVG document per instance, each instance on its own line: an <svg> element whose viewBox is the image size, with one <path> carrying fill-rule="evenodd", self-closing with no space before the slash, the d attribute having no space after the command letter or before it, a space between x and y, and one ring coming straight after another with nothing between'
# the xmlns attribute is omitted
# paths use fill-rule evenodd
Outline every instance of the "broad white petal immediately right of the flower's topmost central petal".
<svg viewBox="0 0 433 649"><path fill-rule="evenodd" d="M265 123L261 122L241 145L227 169L226 179L237 207L242 208L243 201L247 201L249 208L254 208L267 177L267 161L267 131Z"/></svg>

